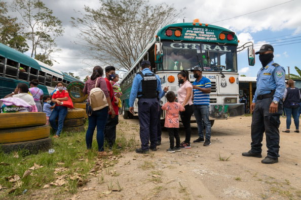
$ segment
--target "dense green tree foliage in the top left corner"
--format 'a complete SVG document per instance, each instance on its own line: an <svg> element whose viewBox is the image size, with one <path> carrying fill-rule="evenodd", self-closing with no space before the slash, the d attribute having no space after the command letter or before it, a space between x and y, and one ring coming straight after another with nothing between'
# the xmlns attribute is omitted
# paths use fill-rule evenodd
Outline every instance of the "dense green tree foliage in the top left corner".
<svg viewBox="0 0 301 200"><path fill-rule="evenodd" d="M0 42L24 53L29 46L21 34L21 24L16 22L17 18L7 16L7 7L6 2L0 2Z"/></svg>

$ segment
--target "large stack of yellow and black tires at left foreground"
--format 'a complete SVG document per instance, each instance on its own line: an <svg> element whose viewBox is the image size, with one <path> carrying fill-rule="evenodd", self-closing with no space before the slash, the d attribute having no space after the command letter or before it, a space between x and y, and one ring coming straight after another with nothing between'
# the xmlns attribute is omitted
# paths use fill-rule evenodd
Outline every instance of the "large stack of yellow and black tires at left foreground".
<svg viewBox="0 0 301 200"><path fill-rule="evenodd" d="M29 153L47 151L51 147L46 114L37 112L2 113L0 148L5 153L27 149Z"/></svg>

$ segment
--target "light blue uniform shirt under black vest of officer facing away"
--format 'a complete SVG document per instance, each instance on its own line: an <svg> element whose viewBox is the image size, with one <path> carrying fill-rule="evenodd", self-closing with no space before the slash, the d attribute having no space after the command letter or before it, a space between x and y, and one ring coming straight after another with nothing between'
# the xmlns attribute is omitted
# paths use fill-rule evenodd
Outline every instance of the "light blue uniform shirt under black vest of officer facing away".
<svg viewBox="0 0 301 200"><path fill-rule="evenodd" d="M142 74L150 74L153 73L152 71L150 71L148 68L145 68L142 70ZM162 88L161 88L161 81L158 75L156 75L157 77L157 91L159 91L159 96L161 97L162 95ZM131 89L131 94L130 94L130 107L134 106L134 102L135 99L137 97L137 93L142 91L142 77L137 74L134 78L133 84L132 84L132 89ZM142 96L142 95L140 95Z"/></svg>

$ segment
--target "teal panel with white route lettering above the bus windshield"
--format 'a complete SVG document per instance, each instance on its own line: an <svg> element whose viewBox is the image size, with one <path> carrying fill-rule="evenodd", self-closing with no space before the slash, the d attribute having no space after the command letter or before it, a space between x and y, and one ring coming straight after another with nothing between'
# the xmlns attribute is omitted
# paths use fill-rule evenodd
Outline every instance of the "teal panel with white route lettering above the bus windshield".
<svg viewBox="0 0 301 200"><path fill-rule="evenodd" d="M231 44L237 44L237 36L229 29L225 29L219 26L214 26L208 24L208 26L205 26L205 24L202 25L193 25L193 23L177 23L177 24L170 24L168 26L163 27L158 31L158 36L160 36L161 39L168 39L168 40L187 40L187 41L206 41L206 42L219 42L219 43L231 43ZM166 30L180 30L181 35L179 37L176 37L175 34L172 34L171 36L166 35ZM219 34L224 33L225 38L221 40L219 38ZM228 34L234 34L234 37L232 40L227 39Z"/></svg>

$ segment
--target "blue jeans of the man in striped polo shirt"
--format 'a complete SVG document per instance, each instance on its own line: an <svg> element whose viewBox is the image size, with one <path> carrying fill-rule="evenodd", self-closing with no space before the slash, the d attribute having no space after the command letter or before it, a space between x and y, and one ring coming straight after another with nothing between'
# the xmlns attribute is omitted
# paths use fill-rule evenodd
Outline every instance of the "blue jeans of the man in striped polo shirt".
<svg viewBox="0 0 301 200"><path fill-rule="evenodd" d="M211 123L209 120L209 105L195 105L195 118L198 124L198 134L200 138L204 138L204 126L206 131L206 139L211 137Z"/></svg>

